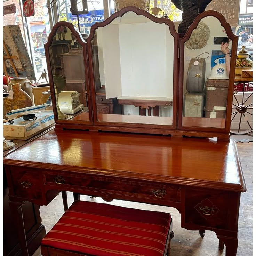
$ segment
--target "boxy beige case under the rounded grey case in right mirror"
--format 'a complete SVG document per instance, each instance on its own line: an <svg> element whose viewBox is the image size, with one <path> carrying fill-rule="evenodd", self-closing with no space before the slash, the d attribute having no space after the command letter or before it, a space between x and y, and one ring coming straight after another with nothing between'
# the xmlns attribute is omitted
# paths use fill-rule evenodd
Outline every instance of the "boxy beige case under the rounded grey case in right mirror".
<svg viewBox="0 0 256 256"><path fill-rule="evenodd" d="M203 106L205 104L205 90L202 93L184 94L183 116L184 117L203 117Z"/></svg>

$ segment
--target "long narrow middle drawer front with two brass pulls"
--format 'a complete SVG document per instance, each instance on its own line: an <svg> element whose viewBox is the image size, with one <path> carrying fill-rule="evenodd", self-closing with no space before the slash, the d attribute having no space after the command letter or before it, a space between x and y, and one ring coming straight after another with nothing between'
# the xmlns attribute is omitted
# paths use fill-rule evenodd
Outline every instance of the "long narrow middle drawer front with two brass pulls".
<svg viewBox="0 0 256 256"><path fill-rule="evenodd" d="M125 195L139 197L158 202L180 202L180 188L169 184L161 187L156 183L142 183L138 181L125 181L122 179L111 179L105 177L80 176L68 173L44 174L46 185L58 185L70 188L79 188L91 191L91 195L97 192L109 193L113 195ZM95 192L95 194L94 194ZM117 197L118 198L118 197Z"/></svg>

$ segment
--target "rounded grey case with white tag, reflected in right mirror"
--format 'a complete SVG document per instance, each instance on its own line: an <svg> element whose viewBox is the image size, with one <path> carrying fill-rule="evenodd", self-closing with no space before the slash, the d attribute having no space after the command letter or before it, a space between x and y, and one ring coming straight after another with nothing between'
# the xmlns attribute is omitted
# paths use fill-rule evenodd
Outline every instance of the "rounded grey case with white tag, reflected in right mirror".
<svg viewBox="0 0 256 256"><path fill-rule="evenodd" d="M195 65L198 64L198 65ZM191 59L187 70L187 91L189 93L202 93L205 86L205 59Z"/></svg>

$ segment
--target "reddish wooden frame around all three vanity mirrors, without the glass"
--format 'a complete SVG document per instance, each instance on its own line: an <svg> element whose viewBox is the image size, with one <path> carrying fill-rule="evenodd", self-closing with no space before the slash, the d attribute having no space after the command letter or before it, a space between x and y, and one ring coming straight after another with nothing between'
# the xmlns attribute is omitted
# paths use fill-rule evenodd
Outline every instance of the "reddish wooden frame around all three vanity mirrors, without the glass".
<svg viewBox="0 0 256 256"><path fill-rule="evenodd" d="M104 27L111 23L115 18L122 17L128 11L133 11L137 15L143 15L153 22L164 23L169 26L171 35L174 37L174 83L173 83L173 125L153 125L153 124L139 124L139 123L118 123L118 122L98 122L97 121L97 105L96 105L96 91L94 82L94 65L93 65L93 51L91 41L94 37L94 32L99 27ZM184 48L185 42L189 39L192 31L198 26L202 18L213 16L216 17L221 26L226 30L227 36L232 40L231 49L231 64L230 64L230 79L227 96L226 120L225 128L214 127L193 127L182 126L183 116L183 76L184 76ZM51 72L49 47L53 41L56 31L59 27L66 26L75 35L79 44L83 48L83 56L85 60L86 69L86 84L88 92L88 107L89 107L89 121L83 120L58 120L56 105L53 107L55 118L55 129L76 129L76 130L102 130L102 131L119 131L132 133L148 133L148 134L163 134L172 135L174 137L218 137L219 139L229 139L230 121L233 101L233 85L235 74L235 61L237 55L238 37L235 36L231 30L229 23L226 22L224 16L217 11L205 11L197 16L192 25L187 30L186 34L178 34L175 30L174 23L168 18L157 18L145 10L141 10L134 6L128 6L120 11L112 14L109 18L101 23L95 23L90 30L90 35L87 38L87 43L82 39L81 34L74 28L73 24L65 21L58 22L54 25L48 42L45 44L46 61L49 73L51 97L53 102L56 102L56 97L53 88L53 77ZM183 36L184 35L184 36ZM183 37L182 37L183 36ZM54 105L54 104L53 104Z"/></svg>

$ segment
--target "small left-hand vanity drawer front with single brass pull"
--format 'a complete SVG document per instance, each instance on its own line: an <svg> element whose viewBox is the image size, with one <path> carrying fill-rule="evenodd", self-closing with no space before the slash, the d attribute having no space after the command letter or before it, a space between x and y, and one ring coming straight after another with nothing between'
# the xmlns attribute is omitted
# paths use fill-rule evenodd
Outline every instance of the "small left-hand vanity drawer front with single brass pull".
<svg viewBox="0 0 256 256"><path fill-rule="evenodd" d="M43 181L40 170L11 168L14 195L28 199L42 199Z"/></svg>

